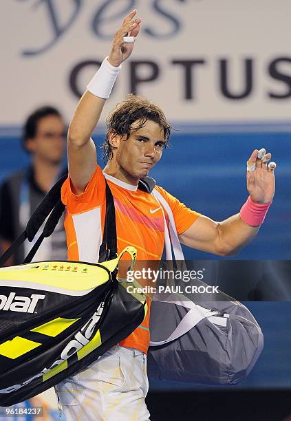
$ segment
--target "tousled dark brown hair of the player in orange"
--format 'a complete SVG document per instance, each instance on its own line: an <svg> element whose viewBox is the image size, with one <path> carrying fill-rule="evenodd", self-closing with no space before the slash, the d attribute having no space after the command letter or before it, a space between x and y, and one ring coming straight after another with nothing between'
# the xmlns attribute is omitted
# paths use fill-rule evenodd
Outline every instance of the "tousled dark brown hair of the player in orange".
<svg viewBox="0 0 291 421"><path fill-rule="evenodd" d="M137 120L140 121L139 125L132 129L131 125ZM103 160L107 162L113 158L113 148L109 142L109 135L112 131L119 136L126 135L125 140L127 140L131 132L138 131L144 127L147 120L158 123L164 130L164 147L168 147L172 127L166 121L166 117L160 107L143 96L129 94L124 101L116 105L106 120L107 133L105 142L100 145L100 148L103 149Z"/></svg>

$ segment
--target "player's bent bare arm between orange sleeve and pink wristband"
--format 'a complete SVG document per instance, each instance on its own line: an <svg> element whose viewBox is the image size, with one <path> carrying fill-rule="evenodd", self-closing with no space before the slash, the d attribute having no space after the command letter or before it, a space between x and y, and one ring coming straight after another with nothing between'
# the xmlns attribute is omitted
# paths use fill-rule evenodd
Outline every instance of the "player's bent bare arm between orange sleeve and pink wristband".
<svg viewBox="0 0 291 421"><path fill-rule="evenodd" d="M246 246L258 233L258 227L252 227L242 221L239 214L222 222L200 216L188 230L179 236L182 244L220 256L235 255Z"/></svg>

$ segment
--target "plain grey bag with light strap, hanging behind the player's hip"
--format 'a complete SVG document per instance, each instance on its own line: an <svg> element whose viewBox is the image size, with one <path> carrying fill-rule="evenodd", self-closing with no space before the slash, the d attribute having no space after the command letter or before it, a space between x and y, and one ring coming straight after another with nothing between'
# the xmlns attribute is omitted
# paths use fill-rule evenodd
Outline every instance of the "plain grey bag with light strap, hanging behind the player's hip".
<svg viewBox="0 0 291 421"><path fill-rule="evenodd" d="M191 286L208 285L195 280ZM155 294L151 303L149 378L236 385L263 349L259 324L245 305L218 294ZM197 296L197 294L196 294Z"/></svg>

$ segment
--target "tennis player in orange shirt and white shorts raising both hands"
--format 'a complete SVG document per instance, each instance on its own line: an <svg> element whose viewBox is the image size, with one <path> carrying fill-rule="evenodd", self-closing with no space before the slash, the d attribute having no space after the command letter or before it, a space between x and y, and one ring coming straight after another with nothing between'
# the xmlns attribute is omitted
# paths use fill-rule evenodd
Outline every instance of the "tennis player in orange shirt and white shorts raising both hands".
<svg viewBox="0 0 291 421"><path fill-rule="evenodd" d="M122 62L131 56L140 25L136 10L125 17L109 56L87 86L69 126L69 178L62 188L62 200L67 206L70 260L98 262L105 219L105 178L116 207L118 252L133 245L138 259L162 257L164 221L169 214L153 195L139 188L140 179L158 164L169 142L171 127L162 110L146 98L131 95L111 111L103 171L96 164L96 147L91 140ZM247 163L249 197L239 213L222 222L200 215L155 186L169 205L181 243L222 256L233 255L248 244L257 235L274 196L275 164L268 164L270 158L264 149L252 152ZM148 347L149 314L125 341L56 387L67 421L149 420L144 400Z"/></svg>

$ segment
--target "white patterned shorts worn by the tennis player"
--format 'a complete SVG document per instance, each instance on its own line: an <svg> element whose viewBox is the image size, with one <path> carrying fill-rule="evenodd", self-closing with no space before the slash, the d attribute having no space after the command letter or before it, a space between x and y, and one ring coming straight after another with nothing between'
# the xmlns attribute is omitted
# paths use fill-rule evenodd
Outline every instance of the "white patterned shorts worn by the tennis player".
<svg viewBox="0 0 291 421"><path fill-rule="evenodd" d="M66 421L147 421L147 356L115 345L56 386Z"/></svg>

